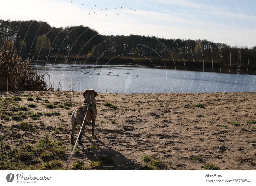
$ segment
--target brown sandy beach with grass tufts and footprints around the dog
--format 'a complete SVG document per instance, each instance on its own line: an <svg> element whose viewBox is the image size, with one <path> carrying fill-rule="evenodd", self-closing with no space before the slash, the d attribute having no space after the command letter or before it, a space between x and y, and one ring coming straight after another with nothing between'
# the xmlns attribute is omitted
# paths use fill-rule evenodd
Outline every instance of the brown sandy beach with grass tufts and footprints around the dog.
<svg viewBox="0 0 256 186"><path fill-rule="evenodd" d="M82 94L0 96L0 169L63 170L73 148L70 112L82 104ZM96 99L96 138L86 126L89 139L83 136L85 148L77 145L70 170L205 170L206 164L255 170L255 93L98 93ZM118 109L104 106L106 102Z"/></svg>

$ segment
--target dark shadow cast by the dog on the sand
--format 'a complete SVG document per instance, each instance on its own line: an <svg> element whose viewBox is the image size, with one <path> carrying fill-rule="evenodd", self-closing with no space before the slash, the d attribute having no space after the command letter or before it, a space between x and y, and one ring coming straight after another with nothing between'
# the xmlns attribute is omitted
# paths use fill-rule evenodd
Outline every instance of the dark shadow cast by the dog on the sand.
<svg viewBox="0 0 256 186"><path fill-rule="evenodd" d="M100 139L96 138L94 141L88 136L85 136L89 143L81 146L77 145L77 148L83 152L81 159L84 157L88 158L89 164L93 164L95 161L100 161L102 165L96 166L95 169L103 170L136 170L140 169L142 165L136 162L135 159L128 159L125 154L122 154L116 150L105 145ZM89 148L90 145L95 145L97 149Z"/></svg>

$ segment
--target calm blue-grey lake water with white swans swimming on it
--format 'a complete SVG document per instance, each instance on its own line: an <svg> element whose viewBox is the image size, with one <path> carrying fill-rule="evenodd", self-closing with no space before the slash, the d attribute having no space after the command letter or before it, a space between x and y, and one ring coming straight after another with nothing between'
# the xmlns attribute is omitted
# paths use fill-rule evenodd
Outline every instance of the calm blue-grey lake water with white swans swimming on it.
<svg viewBox="0 0 256 186"><path fill-rule="evenodd" d="M163 69L159 66L33 64L39 74L48 73L54 86L65 91L94 89L108 93L204 93L256 91L256 76ZM111 69L110 69L111 68ZM89 72L84 74L86 72ZM83 72L81 72L83 71ZM97 75L97 73L100 75ZM109 72L110 75L107 75ZM127 72L130 71L130 74ZM92 73L92 75L90 75ZM116 76L119 74L118 76ZM136 77L138 75L138 77ZM46 77L47 83L49 78Z"/></svg>

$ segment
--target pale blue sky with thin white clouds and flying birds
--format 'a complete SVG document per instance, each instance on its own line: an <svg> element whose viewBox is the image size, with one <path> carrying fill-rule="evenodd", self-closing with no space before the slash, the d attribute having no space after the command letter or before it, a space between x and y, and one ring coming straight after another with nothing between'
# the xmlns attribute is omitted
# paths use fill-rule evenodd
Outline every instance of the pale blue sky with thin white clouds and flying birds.
<svg viewBox="0 0 256 186"><path fill-rule="evenodd" d="M133 33L256 46L255 0L7 0L0 5L4 20L84 25L102 35Z"/></svg>

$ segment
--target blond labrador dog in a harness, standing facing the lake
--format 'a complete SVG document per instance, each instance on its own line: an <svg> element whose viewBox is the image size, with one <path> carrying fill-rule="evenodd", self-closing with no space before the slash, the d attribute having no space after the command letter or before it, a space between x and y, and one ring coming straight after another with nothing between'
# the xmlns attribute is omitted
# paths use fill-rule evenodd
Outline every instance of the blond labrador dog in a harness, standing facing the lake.
<svg viewBox="0 0 256 186"><path fill-rule="evenodd" d="M84 97L83 104L76 107L76 109L73 111L71 115L71 129L72 129L71 140L70 140L71 144L74 144L74 133L75 133L76 125L79 124L82 127L83 121L84 121L84 125L79 135L78 144L82 146L82 136L84 134L85 125L90 120L92 120L92 136L94 136L95 120L97 116L96 96L97 96L97 92L95 92L94 90L85 90L85 92L83 93L83 97ZM86 118L84 120L85 114L86 114Z"/></svg>

